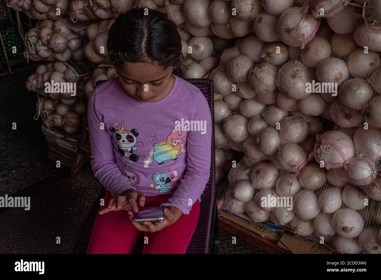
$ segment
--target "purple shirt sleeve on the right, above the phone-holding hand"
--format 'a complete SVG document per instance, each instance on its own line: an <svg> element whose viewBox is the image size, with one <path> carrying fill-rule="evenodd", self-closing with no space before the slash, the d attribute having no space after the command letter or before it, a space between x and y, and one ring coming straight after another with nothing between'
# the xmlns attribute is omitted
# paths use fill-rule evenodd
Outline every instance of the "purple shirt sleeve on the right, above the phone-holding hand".
<svg viewBox="0 0 381 280"><path fill-rule="evenodd" d="M187 167L184 178L180 179L178 189L168 202L160 205L174 206L186 215L202 195L210 177L212 123L208 101L203 95L195 103L192 120L205 121L204 131L187 131Z"/></svg>

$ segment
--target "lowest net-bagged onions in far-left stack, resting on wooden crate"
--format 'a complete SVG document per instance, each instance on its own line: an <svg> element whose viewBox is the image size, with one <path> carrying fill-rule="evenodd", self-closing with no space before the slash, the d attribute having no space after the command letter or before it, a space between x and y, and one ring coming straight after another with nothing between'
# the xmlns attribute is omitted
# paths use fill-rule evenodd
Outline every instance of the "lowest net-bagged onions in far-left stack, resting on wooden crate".
<svg viewBox="0 0 381 280"><path fill-rule="evenodd" d="M48 128L61 127L68 134L75 134L82 127L87 126L87 100L85 95L85 84L92 73L82 67L83 72L78 72L68 63L56 61L42 64L37 67L36 73L29 76L26 88L30 91L38 91L36 102L36 116L42 117L42 122ZM76 67L78 70L79 67ZM45 83L75 83L75 96L70 91L48 91L45 92Z"/></svg>

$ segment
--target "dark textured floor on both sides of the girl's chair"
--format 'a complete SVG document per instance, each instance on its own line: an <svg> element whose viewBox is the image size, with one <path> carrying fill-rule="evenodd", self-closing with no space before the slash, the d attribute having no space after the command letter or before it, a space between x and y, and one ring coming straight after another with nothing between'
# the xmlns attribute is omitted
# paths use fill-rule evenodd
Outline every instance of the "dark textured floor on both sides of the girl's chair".
<svg viewBox="0 0 381 280"><path fill-rule="evenodd" d="M90 164L70 174L48 159L41 118L33 119L37 93L25 88L37 66L0 77L0 196L27 196L31 205L29 211L0 208L0 253L68 253L101 187ZM222 254L265 253L240 238L232 245L225 230L219 235Z"/></svg>

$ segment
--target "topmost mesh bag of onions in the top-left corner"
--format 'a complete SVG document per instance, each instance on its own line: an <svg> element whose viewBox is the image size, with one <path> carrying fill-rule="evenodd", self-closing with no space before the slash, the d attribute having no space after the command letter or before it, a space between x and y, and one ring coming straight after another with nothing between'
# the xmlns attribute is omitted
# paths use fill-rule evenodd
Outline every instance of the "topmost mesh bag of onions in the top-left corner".
<svg viewBox="0 0 381 280"><path fill-rule="evenodd" d="M25 13L28 18L38 20L54 21L69 12L69 0L10 0L7 6Z"/></svg>

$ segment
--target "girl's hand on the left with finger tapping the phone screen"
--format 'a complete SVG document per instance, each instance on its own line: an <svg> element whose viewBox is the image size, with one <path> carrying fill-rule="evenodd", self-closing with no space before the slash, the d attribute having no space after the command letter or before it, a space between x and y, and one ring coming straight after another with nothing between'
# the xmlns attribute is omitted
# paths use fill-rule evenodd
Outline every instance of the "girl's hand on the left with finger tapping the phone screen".
<svg viewBox="0 0 381 280"><path fill-rule="evenodd" d="M122 194L118 195L116 199L114 197L111 198L107 207L99 211L99 214L102 215L110 211L124 210L129 207L137 213L137 201L141 207L143 207L144 203L146 203L146 197L142 192L138 192L134 189L125 190Z"/></svg>

